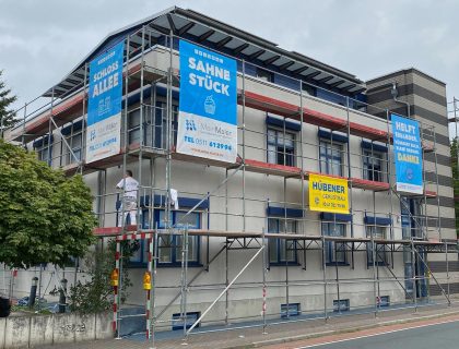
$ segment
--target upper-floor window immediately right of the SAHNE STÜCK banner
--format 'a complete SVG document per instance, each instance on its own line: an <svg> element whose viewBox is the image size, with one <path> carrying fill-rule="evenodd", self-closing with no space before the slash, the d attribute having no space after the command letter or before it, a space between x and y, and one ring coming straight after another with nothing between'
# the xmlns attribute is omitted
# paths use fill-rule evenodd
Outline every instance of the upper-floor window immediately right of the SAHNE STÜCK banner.
<svg viewBox="0 0 459 349"><path fill-rule="evenodd" d="M295 135L275 129L268 129L268 163L294 166Z"/></svg>

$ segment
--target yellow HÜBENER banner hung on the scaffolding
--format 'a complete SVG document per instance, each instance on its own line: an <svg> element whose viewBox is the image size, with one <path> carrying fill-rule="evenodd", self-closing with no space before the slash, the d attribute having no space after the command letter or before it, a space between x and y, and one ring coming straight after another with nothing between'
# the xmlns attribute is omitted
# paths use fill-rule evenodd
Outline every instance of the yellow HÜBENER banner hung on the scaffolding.
<svg viewBox="0 0 459 349"><path fill-rule="evenodd" d="M309 174L309 209L349 214L348 180Z"/></svg>

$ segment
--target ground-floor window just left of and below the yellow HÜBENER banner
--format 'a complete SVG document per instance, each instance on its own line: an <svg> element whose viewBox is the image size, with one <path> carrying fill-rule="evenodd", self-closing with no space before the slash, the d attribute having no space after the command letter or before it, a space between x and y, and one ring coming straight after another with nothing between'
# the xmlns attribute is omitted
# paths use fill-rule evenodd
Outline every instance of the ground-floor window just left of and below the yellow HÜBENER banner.
<svg viewBox="0 0 459 349"><path fill-rule="evenodd" d="M281 218L268 218L268 232L296 232L296 221ZM271 265L296 264L296 244L292 240L270 239L268 243ZM287 251L286 251L287 250Z"/></svg>

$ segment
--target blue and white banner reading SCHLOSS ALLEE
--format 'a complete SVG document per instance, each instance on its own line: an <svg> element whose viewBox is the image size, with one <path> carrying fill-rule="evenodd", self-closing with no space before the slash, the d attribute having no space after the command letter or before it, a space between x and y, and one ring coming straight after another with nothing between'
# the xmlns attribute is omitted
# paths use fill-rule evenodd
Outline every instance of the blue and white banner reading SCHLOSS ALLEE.
<svg viewBox="0 0 459 349"><path fill-rule="evenodd" d="M123 51L120 43L90 63L86 164L117 155L121 148Z"/></svg>

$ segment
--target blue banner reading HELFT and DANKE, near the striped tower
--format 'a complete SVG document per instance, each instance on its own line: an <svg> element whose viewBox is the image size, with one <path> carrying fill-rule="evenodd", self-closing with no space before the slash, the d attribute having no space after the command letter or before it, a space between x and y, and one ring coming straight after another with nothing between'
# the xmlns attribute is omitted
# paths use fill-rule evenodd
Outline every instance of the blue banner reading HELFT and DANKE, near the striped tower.
<svg viewBox="0 0 459 349"><path fill-rule="evenodd" d="M397 191L422 194L422 146L417 121L391 115Z"/></svg>

